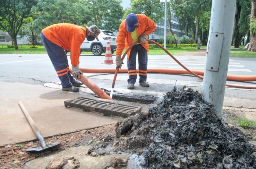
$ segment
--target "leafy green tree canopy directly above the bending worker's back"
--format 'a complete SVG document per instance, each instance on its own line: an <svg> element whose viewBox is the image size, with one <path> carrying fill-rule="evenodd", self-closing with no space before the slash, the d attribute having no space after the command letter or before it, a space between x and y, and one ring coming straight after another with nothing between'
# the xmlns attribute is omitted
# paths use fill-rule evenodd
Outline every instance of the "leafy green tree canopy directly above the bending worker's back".
<svg viewBox="0 0 256 169"><path fill-rule="evenodd" d="M39 0L32 12L42 29L55 23L83 25L92 20L89 5L83 0Z"/></svg>

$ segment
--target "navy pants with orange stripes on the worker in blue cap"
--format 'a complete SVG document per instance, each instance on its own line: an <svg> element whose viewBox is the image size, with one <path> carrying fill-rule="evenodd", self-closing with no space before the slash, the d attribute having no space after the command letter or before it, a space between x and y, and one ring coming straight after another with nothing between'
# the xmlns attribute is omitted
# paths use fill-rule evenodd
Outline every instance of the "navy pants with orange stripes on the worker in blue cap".
<svg viewBox="0 0 256 169"><path fill-rule="evenodd" d="M134 84L137 79L137 73L136 73L137 53L138 53L138 61L139 61L139 76L140 76L139 82L147 80L148 52L141 44L138 44L132 47L129 60L127 60L128 75L129 75L129 79L127 80L128 83Z"/></svg>

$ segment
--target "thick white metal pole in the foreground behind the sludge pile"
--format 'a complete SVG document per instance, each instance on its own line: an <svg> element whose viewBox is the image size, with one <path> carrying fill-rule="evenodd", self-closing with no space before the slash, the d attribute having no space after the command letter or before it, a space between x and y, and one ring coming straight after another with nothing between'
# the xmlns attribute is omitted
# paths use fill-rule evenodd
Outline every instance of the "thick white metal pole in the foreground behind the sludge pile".
<svg viewBox="0 0 256 169"><path fill-rule="evenodd" d="M221 116L234 26L236 0L213 0L202 94Z"/></svg>

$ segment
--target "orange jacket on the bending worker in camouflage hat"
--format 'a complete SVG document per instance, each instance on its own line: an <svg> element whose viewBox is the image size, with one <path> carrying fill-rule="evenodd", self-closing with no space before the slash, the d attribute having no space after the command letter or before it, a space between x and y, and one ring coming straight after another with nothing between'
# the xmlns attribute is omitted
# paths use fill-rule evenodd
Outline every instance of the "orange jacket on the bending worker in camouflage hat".
<svg viewBox="0 0 256 169"><path fill-rule="evenodd" d="M80 46L86 37L86 28L70 23L57 23L44 28L42 33L63 50L70 49L72 66L79 64Z"/></svg>

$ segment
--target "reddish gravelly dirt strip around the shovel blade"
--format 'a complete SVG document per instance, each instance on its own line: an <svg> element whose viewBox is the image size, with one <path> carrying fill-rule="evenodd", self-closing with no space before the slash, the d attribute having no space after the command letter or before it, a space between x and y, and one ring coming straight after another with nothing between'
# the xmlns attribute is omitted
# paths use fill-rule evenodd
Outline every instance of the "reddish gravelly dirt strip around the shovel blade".
<svg viewBox="0 0 256 169"><path fill-rule="evenodd" d="M115 136L115 126L108 125L90 130L82 130L79 132L69 133L65 135L53 136L45 139L46 143L54 143L60 141L61 144L58 147L54 147L50 150L37 153L26 152L27 148L38 147L40 144L38 141L26 142L19 144L7 145L0 147L0 168L19 168L27 161L33 160L37 157L42 157L57 151L66 150L69 147L78 147L80 145L98 145L108 135Z"/></svg>

